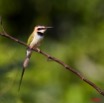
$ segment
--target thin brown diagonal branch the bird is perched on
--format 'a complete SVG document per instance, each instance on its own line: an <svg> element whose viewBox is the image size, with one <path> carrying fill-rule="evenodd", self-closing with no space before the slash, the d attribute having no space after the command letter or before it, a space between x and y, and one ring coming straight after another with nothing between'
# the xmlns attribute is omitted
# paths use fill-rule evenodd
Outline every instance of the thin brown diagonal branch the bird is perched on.
<svg viewBox="0 0 104 103"><path fill-rule="evenodd" d="M1 21L0 21L0 23L1 23ZM1 24L1 26L2 26L2 24ZM15 42L17 42L17 43L29 48L29 46L26 43L24 43L21 40L18 40L16 38L10 36L9 34L7 34L6 31L4 30L3 26L2 26L2 29L3 29L3 32L0 33L1 36L9 38L9 39L11 39L11 40L13 40L13 41L15 41ZM51 59L54 62L62 65L64 68L66 68L67 70L71 71L73 74L78 76L81 80L83 80L84 82L86 82L87 84L92 86L95 90L97 90L101 95L104 96L104 91L102 89L100 89L96 84L94 84L90 80L86 79L80 72L76 71L75 69L71 68L69 65L65 64L63 61L61 61L61 60L59 60L59 59L57 59L57 58L45 53L45 52L43 52L43 51L41 51L39 49L32 49L32 50L44 55L46 58Z"/></svg>

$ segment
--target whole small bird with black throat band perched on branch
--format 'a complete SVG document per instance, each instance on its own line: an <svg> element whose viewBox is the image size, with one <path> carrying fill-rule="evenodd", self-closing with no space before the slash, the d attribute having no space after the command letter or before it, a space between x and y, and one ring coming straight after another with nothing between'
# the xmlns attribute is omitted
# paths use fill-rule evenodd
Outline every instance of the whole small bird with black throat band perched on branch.
<svg viewBox="0 0 104 103"><path fill-rule="evenodd" d="M25 69L27 68L27 66L29 64L30 57L32 55L32 49L37 48L37 50L39 50L38 47L40 46L40 43L44 38L44 33L49 28L52 28L52 27L49 27L49 26L35 26L32 34L29 36L29 39L27 41L27 45L29 47L27 48L26 58L23 62L23 69L22 69L22 73L21 73L21 78L20 78L20 82L19 82L18 91L20 91L23 75L24 75Z"/></svg>

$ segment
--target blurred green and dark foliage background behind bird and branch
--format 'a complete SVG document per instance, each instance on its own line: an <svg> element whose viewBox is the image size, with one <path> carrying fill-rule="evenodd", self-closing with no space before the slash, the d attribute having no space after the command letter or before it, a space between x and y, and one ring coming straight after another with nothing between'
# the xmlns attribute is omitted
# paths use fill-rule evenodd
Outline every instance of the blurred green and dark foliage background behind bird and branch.
<svg viewBox="0 0 104 103"><path fill-rule="evenodd" d="M27 42L34 26L45 33L41 50L80 71L104 89L104 0L0 0L6 32ZM21 90L26 47L0 36L0 103L103 103L76 75L33 53Z"/></svg>

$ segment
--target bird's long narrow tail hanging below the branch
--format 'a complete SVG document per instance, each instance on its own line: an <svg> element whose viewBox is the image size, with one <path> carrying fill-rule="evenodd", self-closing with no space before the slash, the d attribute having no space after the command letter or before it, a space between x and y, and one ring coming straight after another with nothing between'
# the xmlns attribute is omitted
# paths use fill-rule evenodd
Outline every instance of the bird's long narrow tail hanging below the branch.
<svg viewBox="0 0 104 103"><path fill-rule="evenodd" d="M27 56L26 56L26 58L25 58L25 60L24 60L24 62L23 62L23 69L22 69L22 74L21 74L21 78L20 78L20 83L19 83L18 91L20 90L21 83L22 83L22 78L23 78L25 69L26 69L26 67L27 67L28 64L29 64L29 60L30 60L31 54L32 54L32 50L28 49L28 50L27 50Z"/></svg>

